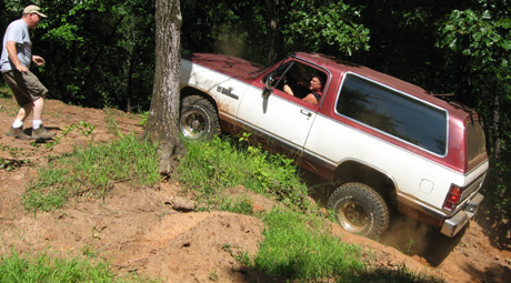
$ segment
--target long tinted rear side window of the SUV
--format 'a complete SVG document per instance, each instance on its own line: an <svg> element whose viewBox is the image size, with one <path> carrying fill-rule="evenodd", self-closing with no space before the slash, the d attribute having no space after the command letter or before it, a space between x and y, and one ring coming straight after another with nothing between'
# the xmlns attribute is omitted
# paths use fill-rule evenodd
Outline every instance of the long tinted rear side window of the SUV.
<svg viewBox="0 0 511 283"><path fill-rule="evenodd" d="M402 92L348 73L335 109L371 128L445 154L447 112Z"/></svg>

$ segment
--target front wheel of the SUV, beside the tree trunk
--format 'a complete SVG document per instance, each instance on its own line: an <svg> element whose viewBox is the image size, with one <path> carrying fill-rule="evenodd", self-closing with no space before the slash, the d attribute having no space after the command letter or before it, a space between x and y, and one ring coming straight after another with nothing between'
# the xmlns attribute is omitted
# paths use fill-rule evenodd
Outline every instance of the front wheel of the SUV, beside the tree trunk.
<svg viewBox="0 0 511 283"><path fill-rule="evenodd" d="M217 110L202 97L186 97L181 102L179 129L187 139L212 139L220 133Z"/></svg>

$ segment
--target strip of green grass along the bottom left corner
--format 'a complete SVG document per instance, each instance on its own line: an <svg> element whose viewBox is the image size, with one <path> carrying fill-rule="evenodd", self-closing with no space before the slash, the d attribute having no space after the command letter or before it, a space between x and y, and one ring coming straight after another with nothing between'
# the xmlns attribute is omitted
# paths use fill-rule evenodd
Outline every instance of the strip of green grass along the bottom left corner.
<svg viewBox="0 0 511 283"><path fill-rule="evenodd" d="M32 260L22 257L13 251L0 257L0 282L156 282L131 275L117 277L110 271L109 264L91 262L90 257L62 260L50 257L47 254Z"/></svg>

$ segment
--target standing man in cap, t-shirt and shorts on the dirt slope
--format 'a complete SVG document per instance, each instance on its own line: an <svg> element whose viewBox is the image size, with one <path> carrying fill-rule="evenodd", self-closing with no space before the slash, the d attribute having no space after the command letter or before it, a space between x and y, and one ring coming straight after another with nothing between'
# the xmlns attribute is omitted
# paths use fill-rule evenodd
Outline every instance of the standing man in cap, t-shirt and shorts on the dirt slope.
<svg viewBox="0 0 511 283"><path fill-rule="evenodd" d="M42 111L48 89L29 71L31 62L37 65L44 63L41 57L32 55L29 33L29 29L34 29L41 18L48 17L41 12L39 7L28 6L21 19L11 22L3 36L0 71L21 107L7 135L21 140L48 140L56 134L42 125ZM32 111L32 135L30 137L24 133L23 123Z"/></svg>

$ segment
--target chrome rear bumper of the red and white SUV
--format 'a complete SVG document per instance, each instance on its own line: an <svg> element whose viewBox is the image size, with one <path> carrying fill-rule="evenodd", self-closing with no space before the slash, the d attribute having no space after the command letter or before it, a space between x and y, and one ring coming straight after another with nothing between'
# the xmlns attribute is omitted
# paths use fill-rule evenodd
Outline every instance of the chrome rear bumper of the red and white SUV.
<svg viewBox="0 0 511 283"><path fill-rule="evenodd" d="M458 211L451 218L445 219L440 232L450 237L455 236L473 218L483 199L484 196L482 194L475 194L474 198L465 203L462 210Z"/></svg>

